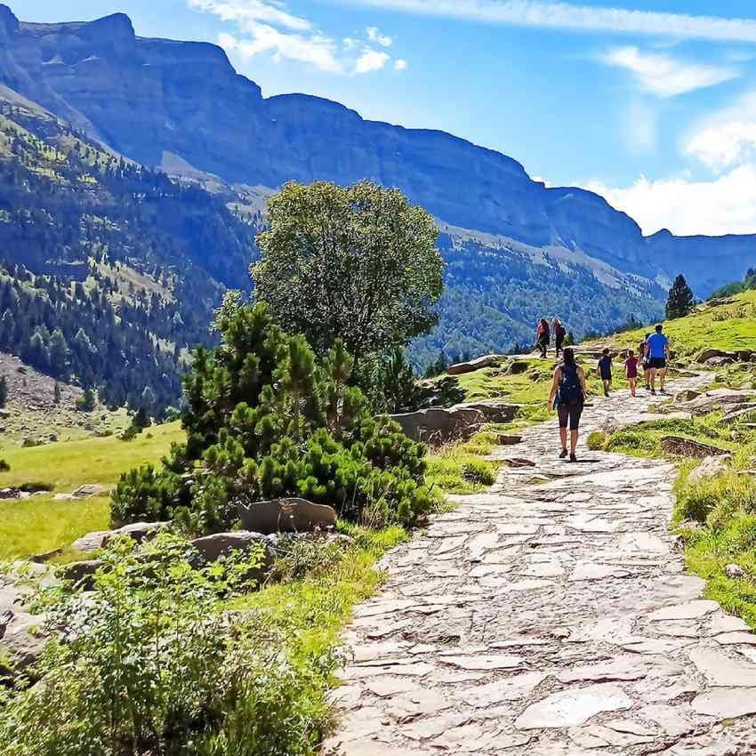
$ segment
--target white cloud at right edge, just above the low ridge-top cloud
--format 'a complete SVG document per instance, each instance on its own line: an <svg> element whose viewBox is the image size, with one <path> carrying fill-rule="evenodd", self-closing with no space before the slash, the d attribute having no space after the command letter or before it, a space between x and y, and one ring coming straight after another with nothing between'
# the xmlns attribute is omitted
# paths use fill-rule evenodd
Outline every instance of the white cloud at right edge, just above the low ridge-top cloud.
<svg viewBox="0 0 756 756"><path fill-rule="evenodd" d="M756 92L697 124L683 151L716 173L756 158Z"/></svg>

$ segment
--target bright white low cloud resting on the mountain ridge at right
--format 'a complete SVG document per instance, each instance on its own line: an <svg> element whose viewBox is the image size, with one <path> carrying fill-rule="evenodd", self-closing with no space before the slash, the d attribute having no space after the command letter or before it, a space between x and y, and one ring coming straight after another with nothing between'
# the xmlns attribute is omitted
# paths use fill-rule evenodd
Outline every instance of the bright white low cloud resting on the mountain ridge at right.
<svg viewBox="0 0 756 756"><path fill-rule="evenodd" d="M638 221L646 235L669 229L680 236L756 233L756 164L735 168L714 181L688 176L649 181L641 176L630 187L615 189L590 181L586 189Z"/></svg>

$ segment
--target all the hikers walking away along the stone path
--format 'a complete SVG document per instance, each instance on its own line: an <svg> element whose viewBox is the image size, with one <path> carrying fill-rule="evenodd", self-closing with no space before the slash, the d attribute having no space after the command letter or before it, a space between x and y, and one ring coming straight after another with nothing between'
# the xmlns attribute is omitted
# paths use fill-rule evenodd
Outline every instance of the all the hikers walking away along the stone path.
<svg viewBox="0 0 756 756"><path fill-rule="evenodd" d="M557 331L557 326L559 326L559 331ZM536 330L542 358L547 357L551 333L548 321L542 318ZM575 360L575 350L570 347L562 349L565 330L556 318L553 333L557 342L557 358L559 359L560 352L563 353L563 357L562 362L554 370L554 380L551 382L549 393L549 411L556 410L559 416L559 440L561 441L559 457L567 459L568 455L570 462L577 462L580 418L588 394L585 372ZM561 333L561 338L559 333ZM646 334L643 342L639 344L637 356L634 350L626 350L622 357L625 377L630 384L631 397L637 396L639 369L643 371L647 391L656 394L656 379L658 378L659 391L662 394L666 393L664 384L667 377L667 362L670 358L670 341L664 335L664 326L659 324L655 327L653 334ZM604 349L596 372L601 380L605 397L609 396L612 388L613 367L611 352ZM567 430L569 430L569 450L567 449Z"/></svg>

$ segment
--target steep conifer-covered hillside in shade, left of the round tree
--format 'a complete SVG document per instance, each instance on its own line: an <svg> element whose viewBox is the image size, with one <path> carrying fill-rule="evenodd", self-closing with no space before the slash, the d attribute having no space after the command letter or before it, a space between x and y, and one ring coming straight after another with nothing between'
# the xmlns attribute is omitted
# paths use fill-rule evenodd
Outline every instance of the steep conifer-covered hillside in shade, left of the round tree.
<svg viewBox="0 0 756 756"><path fill-rule="evenodd" d="M227 201L0 100L0 350L112 406L175 403L224 287L248 286L257 226Z"/></svg>

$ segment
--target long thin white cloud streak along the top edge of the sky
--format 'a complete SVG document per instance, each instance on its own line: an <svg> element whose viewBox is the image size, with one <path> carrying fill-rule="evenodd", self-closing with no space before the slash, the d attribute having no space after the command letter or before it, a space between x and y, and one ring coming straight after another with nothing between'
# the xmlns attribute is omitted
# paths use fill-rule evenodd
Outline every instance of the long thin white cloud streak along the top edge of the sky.
<svg viewBox="0 0 756 756"><path fill-rule="evenodd" d="M343 0L342 0L343 2ZM382 10L519 27L756 43L756 20L541 0L349 0Z"/></svg>

